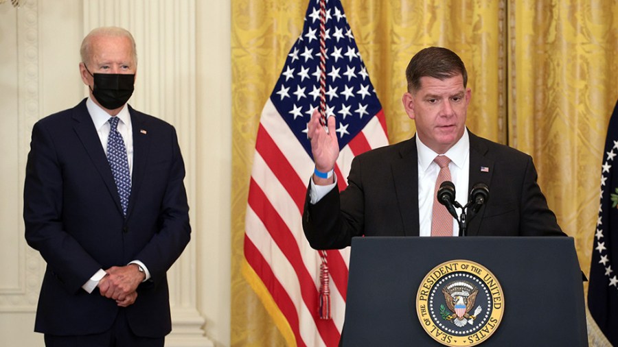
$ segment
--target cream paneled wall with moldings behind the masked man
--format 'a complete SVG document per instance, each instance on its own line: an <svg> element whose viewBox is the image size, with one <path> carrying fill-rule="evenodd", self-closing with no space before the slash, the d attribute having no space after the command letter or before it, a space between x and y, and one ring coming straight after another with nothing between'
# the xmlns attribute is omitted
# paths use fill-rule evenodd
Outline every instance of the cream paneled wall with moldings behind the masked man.
<svg viewBox="0 0 618 347"><path fill-rule="evenodd" d="M230 344L229 1L25 0L0 5L0 346L44 346L34 316L45 261L27 246L23 180L32 126L88 95L79 48L93 27L137 43L132 106L172 123L185 158L192 241L168 278L168 347ZM207 336L207 337L205 337Z"/></svg>

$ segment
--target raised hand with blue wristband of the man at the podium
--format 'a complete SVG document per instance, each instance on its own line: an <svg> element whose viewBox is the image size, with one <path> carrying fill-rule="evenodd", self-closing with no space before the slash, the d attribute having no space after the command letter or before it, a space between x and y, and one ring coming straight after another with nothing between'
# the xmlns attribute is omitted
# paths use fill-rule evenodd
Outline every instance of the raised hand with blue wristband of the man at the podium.
<svg viewBox="0 0 618 347"><path fill-rule="evenodd" d="M334 116L328 117L327 126L328 133L321 124L321 115L319 109L316 108L311 115L311 120L308 124L309 140L311 141L311 152L315 162L315 168L320 172L328 172L334 169L335 162L339 157L339 142L335 131ZM313 175L313 182L317 185L327 185L334 183L334 177L319 178Z"/></svg>

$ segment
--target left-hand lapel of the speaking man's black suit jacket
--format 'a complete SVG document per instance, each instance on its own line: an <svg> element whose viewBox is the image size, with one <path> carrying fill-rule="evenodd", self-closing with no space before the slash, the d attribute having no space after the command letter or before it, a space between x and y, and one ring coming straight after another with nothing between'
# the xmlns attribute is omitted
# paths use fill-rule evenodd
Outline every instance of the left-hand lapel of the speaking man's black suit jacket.
<svg viewBox="0 0 618 347"><path fill-rule="evenodd" d="M404 143L400 158L391 165L405 236L419 235L417 163L416 139L413 137Z"/></svg>

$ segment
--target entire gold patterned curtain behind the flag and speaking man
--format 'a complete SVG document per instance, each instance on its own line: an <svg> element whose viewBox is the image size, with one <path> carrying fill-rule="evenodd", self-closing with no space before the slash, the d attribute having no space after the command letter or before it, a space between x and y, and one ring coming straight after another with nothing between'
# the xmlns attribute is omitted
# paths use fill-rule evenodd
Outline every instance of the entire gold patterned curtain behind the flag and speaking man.
<svg viewBox="0 0 618 347"><path fill-rule="evenodd" d="M341 0L384 108L389 141L414 134L401 96L414 53L439 45L466 63L475 134L533 156L539 184L590 267L606 127L618 98L618 2ZM245 276L244 212L260 112L300 34L308 0L232 0L232 346L286 339Z"/></svg>

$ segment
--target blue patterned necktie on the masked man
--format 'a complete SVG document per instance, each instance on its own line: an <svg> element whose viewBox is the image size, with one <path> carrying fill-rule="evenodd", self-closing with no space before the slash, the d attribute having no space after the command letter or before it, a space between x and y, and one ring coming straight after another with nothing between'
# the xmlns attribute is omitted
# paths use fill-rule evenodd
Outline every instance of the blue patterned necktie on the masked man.
<svg viewBox="0 0 618 347"><path fill-rule="evenodd" d="M131 175L128 169L126 147L124 147L122 135L118 132L118 121L118 117L111 117L109 119L107 161L114 175L114 181L120 196L120 204L122 205L122 213L126 216L128 198L131 195Z"/></svg>

